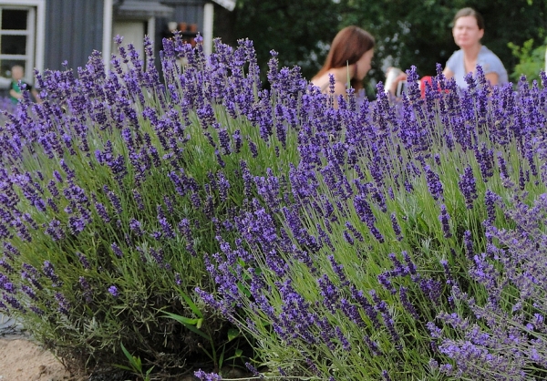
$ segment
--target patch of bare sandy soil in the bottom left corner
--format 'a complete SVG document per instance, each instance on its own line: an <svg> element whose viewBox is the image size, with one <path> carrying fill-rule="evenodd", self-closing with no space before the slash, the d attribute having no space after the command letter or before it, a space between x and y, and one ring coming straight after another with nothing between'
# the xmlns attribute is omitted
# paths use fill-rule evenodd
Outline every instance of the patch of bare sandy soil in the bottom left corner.
<svg viewBox="0 0 547 381"><path fill-rule="evenodd" d="M0 381L83 381L50 352L21 338L0 337Z"/></svg>

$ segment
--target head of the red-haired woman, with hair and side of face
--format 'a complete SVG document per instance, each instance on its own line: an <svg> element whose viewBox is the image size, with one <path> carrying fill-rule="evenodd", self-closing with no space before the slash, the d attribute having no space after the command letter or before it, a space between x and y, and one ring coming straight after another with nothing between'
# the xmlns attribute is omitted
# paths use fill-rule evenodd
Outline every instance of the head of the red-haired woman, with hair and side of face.
<svg viewBox="0 0 547 381"><path fill-rule="evenodd" d="M355 65L350 72L353 88L363 87L362 81L370 70L375 40L366 30L358 26L346 26L333 40L325 64L315 77L322 76L331 68Z"/></svg>

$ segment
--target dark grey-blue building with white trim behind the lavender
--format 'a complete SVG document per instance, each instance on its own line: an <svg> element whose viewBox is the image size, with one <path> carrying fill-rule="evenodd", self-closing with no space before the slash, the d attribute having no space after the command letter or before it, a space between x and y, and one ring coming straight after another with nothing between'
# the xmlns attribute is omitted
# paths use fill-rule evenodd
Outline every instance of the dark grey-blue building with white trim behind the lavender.
<svg viewBox="0 0 547 381"><path fill-rule="evenodd" d="M189 38L203 36L212 49L215 7L232 10L235 0L0 0L0 80L9 84L10 68L25 67L33 83L33 68L42 71L82 67L93 50L112 53L113 37L124 36L142 52L142 39L151 36L154 50L170 28L183 28ZM110 55L103 54L108 65Z"/></svg>

